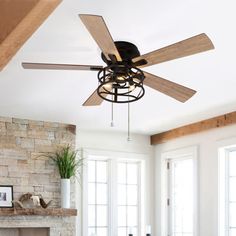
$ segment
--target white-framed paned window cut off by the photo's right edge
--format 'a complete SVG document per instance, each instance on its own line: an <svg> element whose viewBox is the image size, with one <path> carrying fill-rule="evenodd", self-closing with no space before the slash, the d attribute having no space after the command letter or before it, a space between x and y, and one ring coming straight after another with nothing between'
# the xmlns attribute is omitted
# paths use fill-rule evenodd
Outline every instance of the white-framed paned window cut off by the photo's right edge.
<svg viewBox="0 0 236 236"><path fill-rule="evenodd" d="M236 147L220 149L219 235L236 235Z"/></svg>

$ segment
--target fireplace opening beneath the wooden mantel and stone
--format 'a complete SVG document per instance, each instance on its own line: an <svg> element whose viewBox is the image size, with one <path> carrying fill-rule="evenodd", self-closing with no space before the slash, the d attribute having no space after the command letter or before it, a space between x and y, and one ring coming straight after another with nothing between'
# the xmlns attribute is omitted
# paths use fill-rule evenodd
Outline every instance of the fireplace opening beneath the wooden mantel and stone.
<svg viewBox="0 0 236 236"><path fill-rule="evenodd" d="M1 228L0 236L49 236L49 228Z"/></svg>

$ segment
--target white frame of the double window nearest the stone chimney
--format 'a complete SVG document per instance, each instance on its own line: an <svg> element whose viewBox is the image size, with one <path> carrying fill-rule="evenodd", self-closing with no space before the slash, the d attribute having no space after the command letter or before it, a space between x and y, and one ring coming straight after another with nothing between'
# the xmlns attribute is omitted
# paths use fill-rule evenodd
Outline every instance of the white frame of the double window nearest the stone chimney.
<svg viewBox="0 0 236 236"><path fill-rule="evenodd" d="M83 156L85 160L89 160L95 158L96 160L107 160L108 161L108 205L116 206L117 203L117 179L114 179L113 176L117 176L117 163L119 161L128 161L128 162L139 162L139 175L140 182L138 183L140 186L140 193L138 196L138 204L139 204L139 235L144 235L145 232L145 199L144 199L144 191L145 191L145 160L147 155L145 154L137 154L137 153L124 153L124 152L114 152L114 151L103 151L103 150L95 150L95 149L83 149ZM111 175L111 173L113 173ZM82 184L82 199L81 199L81 207L82 211L82 219L80 225L82 226L81 233L82 235L88 235L88 189L87 189L87 170L86 164L83 168L83 184ZM117 209L116 207L110 207L108 210L108 235L117 236Z"/></svg>

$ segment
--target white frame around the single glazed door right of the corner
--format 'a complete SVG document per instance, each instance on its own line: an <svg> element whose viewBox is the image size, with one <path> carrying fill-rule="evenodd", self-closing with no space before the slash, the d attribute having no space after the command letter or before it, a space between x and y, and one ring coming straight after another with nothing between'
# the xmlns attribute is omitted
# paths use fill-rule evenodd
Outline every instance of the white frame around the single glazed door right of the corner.
<svg viewBox="0 0 236 236"><path fill-rule="evenodd" d="M198 181L198 146L191 146L186 148L181 148L173 151L164 152L161 154L161 236L168 236L169 231L169 217L168 212L170 208L168 207L168 160L173 159L183 159L191 156L193 159L193 204L194 204L194 219L193 219L193 234L198 236L199 234L199 181Z"/></svg>

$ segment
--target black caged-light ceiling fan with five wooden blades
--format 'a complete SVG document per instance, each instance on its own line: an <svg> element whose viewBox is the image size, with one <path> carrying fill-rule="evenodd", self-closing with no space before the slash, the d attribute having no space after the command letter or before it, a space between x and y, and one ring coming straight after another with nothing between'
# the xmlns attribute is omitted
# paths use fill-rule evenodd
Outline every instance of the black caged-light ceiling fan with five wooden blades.
<svg viewBox="0 0 236 236"><path fill-rule="evenodd" d="M106 67L97 65L47 64L23 62L25 69L91 70L98 71L100 85L83 106L100 105L104 100L117 103L132 102L144 95L143 84L180 102L196 91L150 74L140 68L214 49L204 33L167 47L140 55L138 48L124 41L114 42L102 16L80 14L80 19L100 47Z"/></svg>

